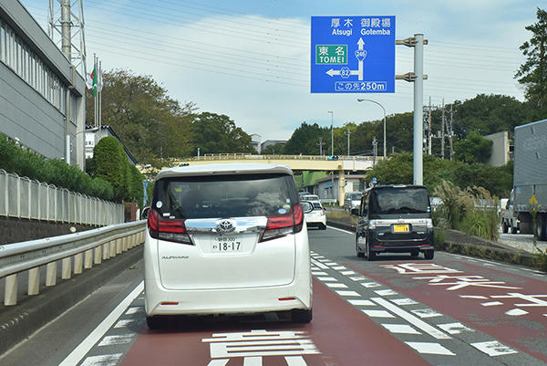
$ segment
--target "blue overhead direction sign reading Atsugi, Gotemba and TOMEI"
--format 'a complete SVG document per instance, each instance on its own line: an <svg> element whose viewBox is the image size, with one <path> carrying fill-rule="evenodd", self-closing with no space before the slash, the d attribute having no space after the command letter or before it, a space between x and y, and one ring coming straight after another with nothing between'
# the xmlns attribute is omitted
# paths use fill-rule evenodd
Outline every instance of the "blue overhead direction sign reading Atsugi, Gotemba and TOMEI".
<svg viewBox="0 0 547 366"><path fill-rule="evenodd" d="M312 93L394 93L395 16L312 16Z"/></svg>

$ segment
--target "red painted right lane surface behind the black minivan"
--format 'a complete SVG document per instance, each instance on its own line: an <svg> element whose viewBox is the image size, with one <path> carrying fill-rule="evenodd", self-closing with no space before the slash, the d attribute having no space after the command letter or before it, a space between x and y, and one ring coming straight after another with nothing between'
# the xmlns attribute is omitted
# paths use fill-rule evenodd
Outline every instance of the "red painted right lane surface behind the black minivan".
<svg viewBox="0 0 547 366"><path fill-rule="evenodd" d="M395 269L384 266L397 266L406 263L425 263L433 262L382 262L377 263L374 269L364 272L353 267L356 272L362 273L381 283L388 288L392 288L413 298L416 301L434 308L437 311L458 319L463 324L473 329L489 334L493 338L511 346L515 350L522 350L531 354L533 357L547 362L547 350L545 349L545 339L547 334L547 314L546 306L518 307L516 304L530 303L522 298L495 298L505 297L509 293L520 293L524 295L547 295L547 286L545 281L540 281L530 277L524 277L518 274L508 273L498 270L494 267L477 266L458 260L436 261L435 264L442 267L458 269L462 273L442 274L450 277L468 277L477 279L480 276L490 280L490 282L504 282L503 284L485 284L487 286L507 286L513 288L493 288L468 286L464 288L454 288L448 283L458 283L457 278L446 278L439 281L439 284L431 285L429 281L435 277L435 274L400 274ZM345 264L346 267L352 267ZM417 277L419 277L417 279ZM484 298L461 298L461 296L481 296ZM539 298L547 301L547 298ZM483 306L481 303L501 302L502 305ZM521 316L510 316L505 314L512 309L522 309L528 311L528 314ZM538 343L542 340L542 344Z"/></svg>

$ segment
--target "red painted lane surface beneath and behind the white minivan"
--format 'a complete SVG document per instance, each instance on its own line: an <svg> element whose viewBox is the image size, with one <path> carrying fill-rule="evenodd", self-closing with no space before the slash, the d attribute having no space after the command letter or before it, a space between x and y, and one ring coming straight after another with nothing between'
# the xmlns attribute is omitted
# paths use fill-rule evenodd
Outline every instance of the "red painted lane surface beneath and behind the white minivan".
<svg viewBox="0 0 547 366"><path fill-rule="evenodd" d="M308 366L429 365L404 343L368 319L365 314L339 298L325 285L314 280L314 320L305 325L284 321L196 322L164 331L142 329L122 366L188 365L206 366L209 344L202 339L213 333L251 329L305 331L321 352L304 355ZM286 366L281 356L263 357L263 366ZM241 366L243 358L232 358L227 366Z"/></svg>

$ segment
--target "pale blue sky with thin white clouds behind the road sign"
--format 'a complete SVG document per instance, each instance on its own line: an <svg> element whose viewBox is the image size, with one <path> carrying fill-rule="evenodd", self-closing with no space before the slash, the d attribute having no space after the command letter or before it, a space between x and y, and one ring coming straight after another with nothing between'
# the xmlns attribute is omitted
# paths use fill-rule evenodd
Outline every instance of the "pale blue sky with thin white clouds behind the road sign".
<svg viewBox="0 0 547 366"><path fill-rule="evenodd" d="M47 1L21 0L42 26ZM56 1L57 3L57 1ZM391 94L310 93L311 16L396 16L396 38L423 33L424 102L465 100L479 93L523 100L513 78L523 61L524 29L536 21L532 0L84 0L88 72L146 74L181 103L226 114L262 140L287 140L303 121L331 124L380 120L413 109L413 86L397 80ZM413 48L396 47L396 74L413 70Z"/></svg>

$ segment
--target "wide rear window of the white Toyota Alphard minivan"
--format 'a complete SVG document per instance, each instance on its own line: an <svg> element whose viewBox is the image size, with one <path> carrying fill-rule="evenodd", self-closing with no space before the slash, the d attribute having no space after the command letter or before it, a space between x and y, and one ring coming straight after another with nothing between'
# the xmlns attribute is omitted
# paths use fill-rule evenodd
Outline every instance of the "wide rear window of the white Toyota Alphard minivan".
<svg viewBox="0 0 547 366"><path fill-rule="evenodd" d="M298 202L291 175L241 174L164 178L152 208L170 218L222 218L285 214Z"/></svg>

